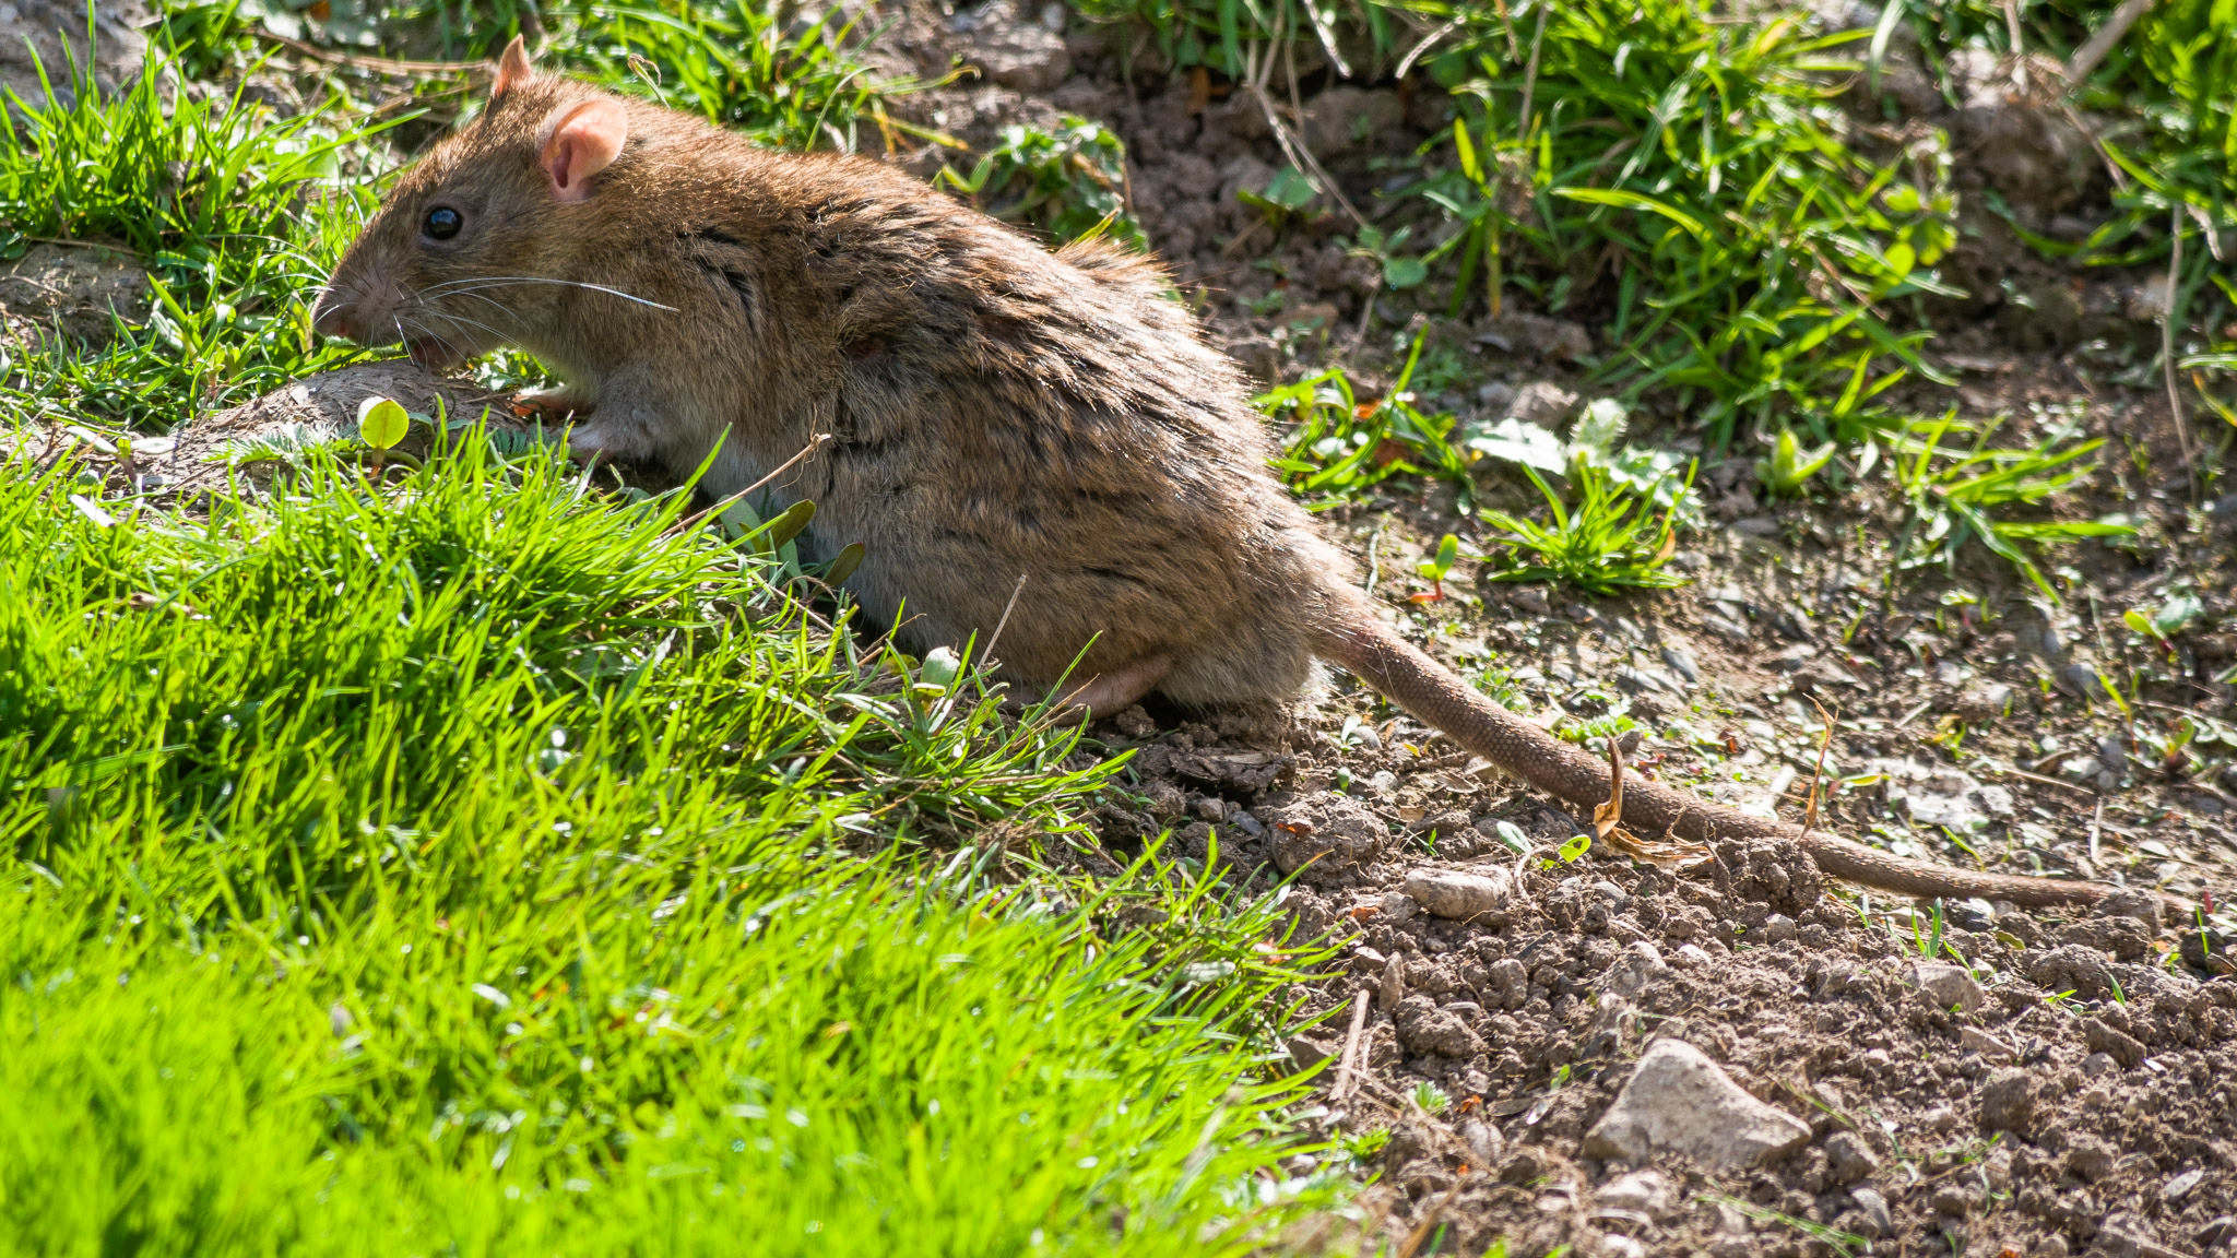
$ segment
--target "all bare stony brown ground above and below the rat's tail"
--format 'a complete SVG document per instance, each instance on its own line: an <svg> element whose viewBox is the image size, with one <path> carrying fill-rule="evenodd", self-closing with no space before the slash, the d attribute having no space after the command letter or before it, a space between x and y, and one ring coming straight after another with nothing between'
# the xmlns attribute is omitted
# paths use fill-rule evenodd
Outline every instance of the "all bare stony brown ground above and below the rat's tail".
<svg viewBox="0 0 2237 1258"><path fill-rule="evenodd" d="M1262 381L1338 358L1387 381L1414 309L1335 244L1349 219L1324 206L1275 235L1235 197L1284 163L1255 101L1165 74L1123 29L1022 27L1000 2L915 11L890 36L902 65L955 56L987 76L906 107L973 145L1060 112L1112 125L1152 244ZM1302 132L1356 204L1387 177L1376 157L1445 125L1427 94L1302 78ZM1960 193L1995 188L2036 231L2087 231L2103 175L2065 119L2018 98L1953 112L1917 87L1895 74L1888 92L1957 139ZM1340 940L1344 971L1300 992L1327 1021L1291 1050L1329 1059L1309 1121L1371 1151L1367 1227L1398 1251L2237 1254L2237 974L2219 958L2237 933L2237 768L2226 745L2170 766L2136 739L2181 714L2237 716L2215 680L2237 658L2237 497L2194 506L2165 394L2116 383L2123 354L2156 338L2150 275L2063 273L1986 217L1946 275L1978 293L1935 311L1928 354L1960 385L1908 401L2011 414L2016 441L2078 421L2109 457L2058 513L2139 522L2118 546L2056 555L2074 569L2060 602L1980 557L1890 582L1890 492L1767 506L1731 457L1702 468L1714 519L1676 560L1684 589L1588 604L1452 580L1456 598L1394 616L1463 674L1497 667L1521 710L1629 714L1635 772L1787 817L1814 777L1848 779L1819 824L1953 864L2165 889L2194 913L2165 920L2130 893L2071 913L1960 902L1937 920L1745 844L1689 869L1606 842L1521 860L1514 842L1557 846L1582 819L1347 678L1293 712L1101 723L1105 745L1134 750L1139 790L1103 817L1107 844L1170 828L1248 884L1295 871L1293 938ZM1273 287L1280 313L1253 313ZM1591 327L1532 311L1438 336L1476 367L1472 389L1427 398L1459 412L1577 392L1575 360L1595 349ZM1642 419L1646 441L1700 450L1682 416ZM1512 484L1479 492L1523 501ZM1427 589L1412 575L1425 546L1470 531L1450 492L1420 486L1331 522L1394 609ZM2096 674L2127 676L2143 647L2121 618L2170 591L2206 616L2145 669L2130 721ZM1508 895L1445 904L1436 871ZM1649 1054L1658 1041L1691 1045L1707 1072L1671 1083L1684 1054ZM1714 1119L1689 1135L1684 1110ZM1769 1124L1756 1144L1752 1121Z"/></svg>

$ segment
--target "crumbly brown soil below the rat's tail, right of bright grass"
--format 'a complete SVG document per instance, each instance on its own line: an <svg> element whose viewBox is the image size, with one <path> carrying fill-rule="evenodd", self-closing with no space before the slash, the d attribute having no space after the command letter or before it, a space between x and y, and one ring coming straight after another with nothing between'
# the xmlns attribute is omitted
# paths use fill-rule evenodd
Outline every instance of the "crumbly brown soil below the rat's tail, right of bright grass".
<svg viewBox="0 0 2237 1258"><path fill-rule="evenodd" d="M1112 808L1105 835L1172 828L1255 884L1293 871L1295 938L1342 940L1342 971L1300 992L1327 1021L1291 1050L1329 1063L1331 1137L1387 1133L1367 1171L1389 1236L1521 1256L2226 1245L2237 978L2150 895L2065 918L1957 904L1935 927L1823 893L1776 846L1725 846L1691 875L1519 860L1517 839L1550 848L1577 822L1405 721L1331 707L1286 739L1266 719L1159 734L1123 714L1103 732L1148 736L1141 810ZM1483 909L1452 884L1508 893ZM1794 1139L1617 1155L1611 1106L1662 1039Z"/></svg>

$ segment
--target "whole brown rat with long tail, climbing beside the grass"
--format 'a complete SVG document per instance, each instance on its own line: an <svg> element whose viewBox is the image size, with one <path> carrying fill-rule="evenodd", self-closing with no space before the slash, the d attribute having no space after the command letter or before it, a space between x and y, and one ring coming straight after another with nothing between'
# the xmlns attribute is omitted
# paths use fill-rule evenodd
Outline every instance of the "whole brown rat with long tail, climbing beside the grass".
<svg viewBox="0 0 2237 1258"><path fill-rule="evenodd" d="M863 613L919 654L1000 625L995 676L1083 719L1148 694L1280 703L1324 660L1573 806L1611 795L1604 761L1385 627L1273 477L1239 367L1112 244L1051 253L890 166L763 150L541 74L512 40L485 110L398 179L313 322L434 369L526 349L564 381L532 403L573 416L570 450L705 466L718 499L783 470L778 506L817 504L803 562L863 544L843 582ZM1622 822L1794 842L1919 898L2112 891L1906 860L1637 777Z"/></svg>

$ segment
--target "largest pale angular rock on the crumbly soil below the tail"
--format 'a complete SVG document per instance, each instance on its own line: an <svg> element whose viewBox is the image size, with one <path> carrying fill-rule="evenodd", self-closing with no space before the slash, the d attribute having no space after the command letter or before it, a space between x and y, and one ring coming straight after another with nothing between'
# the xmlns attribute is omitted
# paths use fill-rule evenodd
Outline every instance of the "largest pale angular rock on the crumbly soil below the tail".
<svg viewBox="0 0 2237 1258"><path fill-rule="evenodd" d="M1807 1124L1747 1095L1709 1054L1678 1039L1658 1039L1584 1137L1584 1155L1646 1162L1676 1153L1702 1166L1738 1171L1805 1139Z"/></svg>

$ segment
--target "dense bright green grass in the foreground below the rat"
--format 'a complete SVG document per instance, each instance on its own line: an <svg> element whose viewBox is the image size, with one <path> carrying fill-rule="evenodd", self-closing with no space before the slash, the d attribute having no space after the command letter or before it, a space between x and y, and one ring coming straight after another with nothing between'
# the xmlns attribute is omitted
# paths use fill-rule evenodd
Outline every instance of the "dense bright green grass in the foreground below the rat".
<svg viewBox="0 0 2237 1258"><path fill-rule="evenodd" d="M1199 1254L1327 1200L1266 1177L1271 907L1018 882L1110 766L673 501L474 436L210 519L65 488L0 475L11 1251Z"/></svg>

